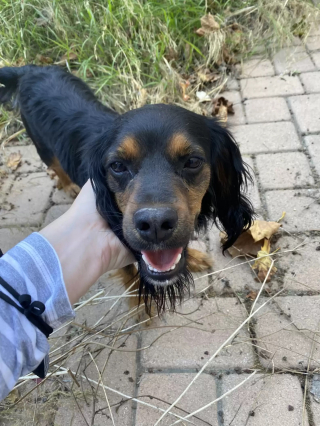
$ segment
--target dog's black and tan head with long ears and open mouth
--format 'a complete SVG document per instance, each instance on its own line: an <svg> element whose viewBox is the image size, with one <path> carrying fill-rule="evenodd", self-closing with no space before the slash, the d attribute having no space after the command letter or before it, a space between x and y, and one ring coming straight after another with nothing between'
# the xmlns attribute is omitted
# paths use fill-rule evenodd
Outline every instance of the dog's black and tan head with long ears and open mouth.
<svg viewBox="0 0 320 426"><path fill-rule="evenodd" d="M118 116L96 145L91 179L100 214L134 252L140 292L174 306L192 280L186 248L213 221L230 247L251 223L242 194L250 175L230 133L172 105L150 105ZM149 297L151 296L151 297Z"/></svg>

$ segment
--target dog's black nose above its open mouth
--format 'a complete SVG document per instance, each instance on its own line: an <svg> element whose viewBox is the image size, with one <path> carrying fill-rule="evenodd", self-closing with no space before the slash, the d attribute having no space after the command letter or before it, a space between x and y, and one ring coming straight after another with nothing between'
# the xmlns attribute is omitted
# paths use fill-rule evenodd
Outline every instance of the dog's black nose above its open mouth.
<svg viewBox="0 0 320 426"><path fill-rule="evenodd" d="M167 240L178 223L177 212L169 207L141 209L134 214L133 219L141 237L152 243Z"/></svg>

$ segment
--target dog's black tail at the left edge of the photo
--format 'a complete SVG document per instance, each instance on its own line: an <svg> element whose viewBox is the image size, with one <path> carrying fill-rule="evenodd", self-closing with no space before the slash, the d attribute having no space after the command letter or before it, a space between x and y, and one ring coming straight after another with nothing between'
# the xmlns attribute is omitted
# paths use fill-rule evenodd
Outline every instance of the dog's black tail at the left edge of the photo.
<svg viewBox="0 0 320 426"><path fill-rule="evenodd" d="M0 68L0 104L7 104L16 97L19 87L19 80L26 72L25 67L4 67Z"/></svg>

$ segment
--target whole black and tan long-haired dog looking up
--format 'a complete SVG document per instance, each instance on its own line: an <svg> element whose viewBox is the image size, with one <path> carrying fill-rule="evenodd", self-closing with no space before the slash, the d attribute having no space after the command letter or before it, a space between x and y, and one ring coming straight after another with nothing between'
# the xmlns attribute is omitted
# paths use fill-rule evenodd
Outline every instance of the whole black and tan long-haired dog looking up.
<svg viewBox="0 0 320 426"><path fill-rule="evenodd" d="M0 103L13 100L41 159L74 196L91 179L97 209L138 262L139 293L150 311L174 308L208 266L188 249L211 221L230 247L251 223L242 190L250 179L230 133L173 105L117 114L58 67L0 69ZM128 271L128 269L127 269Z"/></svg>

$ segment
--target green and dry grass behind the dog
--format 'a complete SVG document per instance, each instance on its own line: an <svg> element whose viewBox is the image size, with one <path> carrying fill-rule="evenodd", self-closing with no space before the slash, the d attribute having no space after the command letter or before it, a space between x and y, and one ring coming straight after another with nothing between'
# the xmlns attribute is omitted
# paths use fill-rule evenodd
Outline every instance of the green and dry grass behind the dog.
<svg viewBox="0 0 320 426"><path fill-rule="evenodd" d="M181 101L203 84L198 71L225 74L257 51L303 37L315 16L307 0L0 0L0 65L58 63L88 80L119 112ZM210 12L220 29L199 37ZM2 113L1 123L10 116Z"/></svg>

